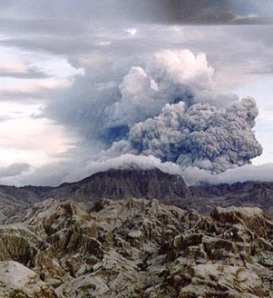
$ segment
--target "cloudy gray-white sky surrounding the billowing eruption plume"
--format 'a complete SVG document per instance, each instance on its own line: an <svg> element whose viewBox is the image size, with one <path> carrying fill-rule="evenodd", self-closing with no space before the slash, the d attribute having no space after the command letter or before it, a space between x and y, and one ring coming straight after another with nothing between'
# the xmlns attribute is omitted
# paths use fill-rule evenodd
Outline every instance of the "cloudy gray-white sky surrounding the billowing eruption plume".
<svg viewBox="0 0 273 298"><path fill-rule="evenodd" d="M219 92L256 99L254 164L272 163L272 17L270 0L0 0L0 183L89 174L124 76L161 50L204 53Z"/></svg>

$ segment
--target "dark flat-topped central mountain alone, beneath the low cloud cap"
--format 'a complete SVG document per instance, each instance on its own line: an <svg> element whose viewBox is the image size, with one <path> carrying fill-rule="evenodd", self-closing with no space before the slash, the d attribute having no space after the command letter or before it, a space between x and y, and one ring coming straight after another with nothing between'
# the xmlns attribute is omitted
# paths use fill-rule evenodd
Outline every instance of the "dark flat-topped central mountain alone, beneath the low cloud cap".
<svg viewBox="0 0 273 298"><path fill-rule="evenodd" d="M157 198L166 204L179 204L181 198L190 196L190 192L179 175L153 169L97 173L77 183L62 184L47 195L56 199L69 197L76 201Z"/></svg>

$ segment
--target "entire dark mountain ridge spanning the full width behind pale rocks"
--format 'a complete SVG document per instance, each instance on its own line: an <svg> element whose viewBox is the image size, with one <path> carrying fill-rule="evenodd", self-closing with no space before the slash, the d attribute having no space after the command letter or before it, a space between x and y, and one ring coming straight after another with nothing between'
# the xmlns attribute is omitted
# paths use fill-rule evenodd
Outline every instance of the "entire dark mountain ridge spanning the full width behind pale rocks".
<svg viewBox="0 0 273 298"><path fill-rule="evenodd" d="M120 169L92 174L56 187L0 185L0 219L47 198L93 204L102 199L158 199L182 209L210 214L215 206L258 206L273 216L273 183L203 184L187 186L180 175L160 169ZM5 216L4 216L4 215Z"/></svg>

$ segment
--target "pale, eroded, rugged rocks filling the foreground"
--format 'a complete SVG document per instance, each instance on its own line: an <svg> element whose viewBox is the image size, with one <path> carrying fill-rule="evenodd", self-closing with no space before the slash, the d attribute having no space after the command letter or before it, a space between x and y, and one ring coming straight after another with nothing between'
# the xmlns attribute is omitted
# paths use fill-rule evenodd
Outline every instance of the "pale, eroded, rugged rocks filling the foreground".
<svg viewBox="0 0 273 298"><path fill-rule="evenodd" d="M272 239L258 208L48 199L0 226L0 297L273 297Z"/></svg>

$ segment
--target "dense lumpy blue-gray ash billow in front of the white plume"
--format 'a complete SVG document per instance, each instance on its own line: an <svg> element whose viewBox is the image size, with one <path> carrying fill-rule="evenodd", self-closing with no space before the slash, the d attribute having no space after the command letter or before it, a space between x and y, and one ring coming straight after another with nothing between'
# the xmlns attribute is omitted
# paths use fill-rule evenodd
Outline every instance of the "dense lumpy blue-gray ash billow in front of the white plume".
<svg viewBox="0 0 273 298"><path fill-rule="evenodd" d="M262 153L252 131L257 116L250 97L222 109L166 104L160 115L133 125L129 141L139 154L219 173L249 164Z"/></svg>

